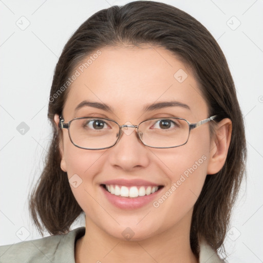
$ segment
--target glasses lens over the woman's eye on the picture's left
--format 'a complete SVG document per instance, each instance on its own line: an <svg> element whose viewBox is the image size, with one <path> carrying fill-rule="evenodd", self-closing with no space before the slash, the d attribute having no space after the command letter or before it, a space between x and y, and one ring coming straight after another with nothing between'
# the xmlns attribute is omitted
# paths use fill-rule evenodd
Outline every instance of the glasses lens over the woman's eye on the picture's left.
<svg viewBox="0 0 263 263"><path fill-rule="evenodd" d="M87 149L106 148L115 144L119 135L119 125L107 119L74 119L69 126L69 136L73 144Z"/></svg>

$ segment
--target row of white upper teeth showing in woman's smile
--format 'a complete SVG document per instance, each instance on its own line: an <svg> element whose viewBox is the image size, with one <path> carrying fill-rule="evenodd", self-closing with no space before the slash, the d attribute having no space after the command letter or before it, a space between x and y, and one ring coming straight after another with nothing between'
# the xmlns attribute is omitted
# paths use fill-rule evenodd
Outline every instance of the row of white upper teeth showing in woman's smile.
<svg viewBox="0 0 263 263"><path fill-rule="evenodd" d="M101 186L110 193L118 197L124 198L140 198L144 196L152 195L160 191L164 186L151 186L151 185L118 185L118 184L101 184Z"/></svg>

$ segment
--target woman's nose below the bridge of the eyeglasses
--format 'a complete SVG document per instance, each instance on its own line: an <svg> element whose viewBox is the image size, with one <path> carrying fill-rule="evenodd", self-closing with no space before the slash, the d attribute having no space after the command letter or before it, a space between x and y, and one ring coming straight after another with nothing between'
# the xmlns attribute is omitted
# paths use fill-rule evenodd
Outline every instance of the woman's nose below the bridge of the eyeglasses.
<svg viewBox="0 0 263 263"><path fill-rule="evenodd" d="M109 162L112 166L128 172L136 167L146 167L149 164L149 151L138 134L136 125L122 125L121 135L117 143L111 147Z"/></svg>

